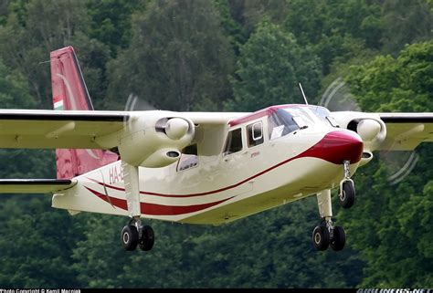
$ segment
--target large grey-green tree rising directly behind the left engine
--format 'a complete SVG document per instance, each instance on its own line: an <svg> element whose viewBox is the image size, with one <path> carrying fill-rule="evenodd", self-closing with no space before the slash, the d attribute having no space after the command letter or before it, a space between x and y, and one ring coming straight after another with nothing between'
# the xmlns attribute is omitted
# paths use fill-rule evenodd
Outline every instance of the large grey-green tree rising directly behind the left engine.
<svg viewBox="0 0 433 293"><path fill-rule="evenodd" d="M111 103L134 93L164 110L216 110L231 96L233 52L211 2L153 1L132 31L131 46L111 63Z"/></svg>

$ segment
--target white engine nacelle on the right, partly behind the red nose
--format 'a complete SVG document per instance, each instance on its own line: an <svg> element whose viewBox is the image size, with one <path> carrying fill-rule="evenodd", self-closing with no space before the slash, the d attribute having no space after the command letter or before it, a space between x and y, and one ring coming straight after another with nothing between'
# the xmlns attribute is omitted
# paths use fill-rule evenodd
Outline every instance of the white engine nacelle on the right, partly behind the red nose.
<svg viewBox="0 0 433 293"><path fill-rule="evenodd" d="M364 113L355 111L332 112L331 116L339 123L340 127L354 131L361 136L364 142L364 152L371 152L378 149L385 141L386 126L379 115L375 113ZM368 156L368 162L372 156Z"/></svg>

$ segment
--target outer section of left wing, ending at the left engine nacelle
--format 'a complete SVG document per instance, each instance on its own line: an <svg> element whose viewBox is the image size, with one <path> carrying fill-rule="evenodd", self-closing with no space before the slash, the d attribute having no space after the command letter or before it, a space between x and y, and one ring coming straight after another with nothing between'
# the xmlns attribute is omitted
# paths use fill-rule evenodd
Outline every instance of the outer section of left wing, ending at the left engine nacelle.
<svg viewBox="0 0 433 293"><path fill-rule="evenodd" d="M121 111L0 110L0 148L101 149L95 138L129 119Z"/></svg>

